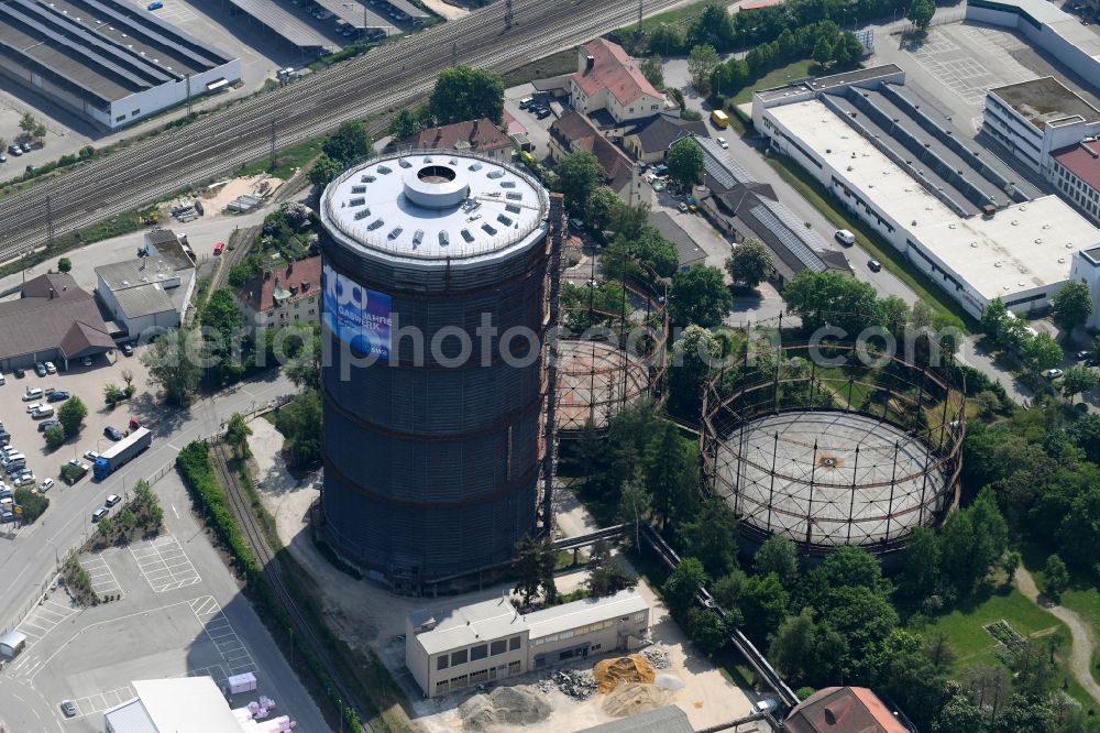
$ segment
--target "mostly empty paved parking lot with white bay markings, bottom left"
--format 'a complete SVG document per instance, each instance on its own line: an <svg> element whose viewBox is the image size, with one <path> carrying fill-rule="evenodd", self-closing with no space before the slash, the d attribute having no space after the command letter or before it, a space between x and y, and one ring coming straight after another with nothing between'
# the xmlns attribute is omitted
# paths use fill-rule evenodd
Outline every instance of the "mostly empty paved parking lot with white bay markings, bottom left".
<svg viewBox="0 0 1100 733"><path fill-rule="evenodd" d="M330 730L200 530L179 478L155 489L167 524L160 537L80 558L97 591L121 600L81 610L58 589L19 624L29 648L0 671L9 730L55 730L53 716L62 731L98 732L102 712L133 697L134 680L208 675L223 686L243 672L258 687L233 707L266 694L298 730ZM66 700L76 711L68 719Z"/></svg>

